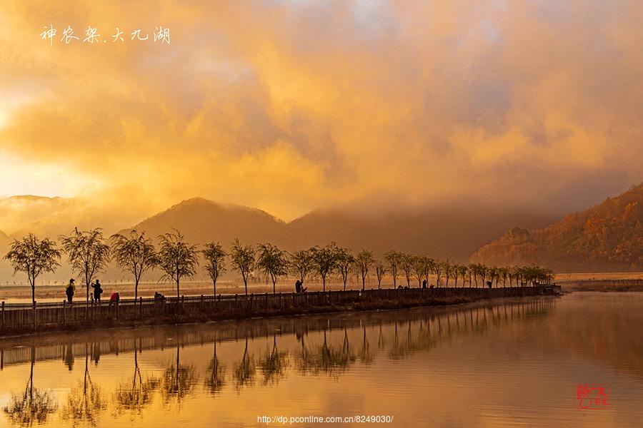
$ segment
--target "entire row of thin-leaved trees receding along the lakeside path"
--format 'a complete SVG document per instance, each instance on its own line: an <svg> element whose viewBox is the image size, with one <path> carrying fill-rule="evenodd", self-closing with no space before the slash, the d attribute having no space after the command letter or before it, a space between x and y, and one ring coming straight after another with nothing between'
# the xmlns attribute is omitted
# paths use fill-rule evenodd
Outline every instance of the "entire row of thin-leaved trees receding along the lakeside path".
<svg viewBox="0 0 643 428"><path fill-rule="evenodd" d="M111 245L110 245L111 244ZM164 272L164 277L176 284L176 295L180 296L181 279L196 275L201 256L204 270L208 273L213 292L216 295L216 281L227 269L226 262L241 274L245 292L248 294L248 280L260 272L269 277L273 292L276 292L276 282L279 277L289 273L295 275L301 282L308 277L319 277L323 290L329 277L341 277L344 290L352 272L357 273L362 280L362 290L366 287L369 272L375 273L378 288L382 287L385 275L391 275L393 286L397 287L397 279L401 274L411 286L412 278L417 279L418 286L429 283L429 275L435 275L437 285L449 287L453 280L457 287L458 280L462 287L478 287L493 284L512 286L533 285L537 282L552 282L554 273L544 267L488 267L479 263L462 265L447 261L437 261L428 256L410 255L398 251L389 251L382 260L376 260L367 250L353 254L347 248L338 247L336 243L315 246L307 250L296 250L287 253L269 243L243 245L234 240L229 252L220 243L208 243L199 250L196 245L187 243L178 230L159 236L159 249L156 250L151 238L144 233L131 230L129 236L115 234L104 238L101 229L79 231L74 229L70 235L62 235L59 242L49 238L39 239L29 234L22 240L14 240L11 249L4 258L9 260L16 272L26 273L31 285L31 297L35 302L36 278L44 272L55 272L59 267L62 254L66 254L71 270L83 278L86 300L89 302L89 285L97 273L104 270L110 260L114 260L121 270L134 277L134 297L138 298L139 282L145 272L157 268ZM485 283L485 280L488 280Z"/></svg>

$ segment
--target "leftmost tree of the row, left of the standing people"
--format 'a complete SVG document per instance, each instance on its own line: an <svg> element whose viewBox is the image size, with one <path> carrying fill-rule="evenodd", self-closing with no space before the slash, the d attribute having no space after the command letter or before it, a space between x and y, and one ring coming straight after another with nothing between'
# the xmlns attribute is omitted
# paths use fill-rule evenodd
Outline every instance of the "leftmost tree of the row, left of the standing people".
<svg viewBox="0 0 643 428"><path fill-rule="evenodd" d="M39 240L36 235L29 233L22 240L11 243L9 253L4 256L9 260L16 272L25 272L31 285L31 302L36 303L36 278L44 272L54 273L59 266L60 251L56 243L44 238Z"/></svg>

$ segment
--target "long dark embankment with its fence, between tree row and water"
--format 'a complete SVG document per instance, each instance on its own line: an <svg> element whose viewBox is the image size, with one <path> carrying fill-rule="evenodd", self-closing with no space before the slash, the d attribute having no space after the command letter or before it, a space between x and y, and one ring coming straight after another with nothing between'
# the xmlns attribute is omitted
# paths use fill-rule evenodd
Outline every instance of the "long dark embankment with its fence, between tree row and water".
<svg viewBox="0 0 643 428"><path fill-rule="evenodd" d="M179 324L323 312L456 305L502 297L555 295L559 287L348 290L261 295L181 296L128 299L110 305L85 302L2 304L0 337L32 332L135 325Z"/></svg>

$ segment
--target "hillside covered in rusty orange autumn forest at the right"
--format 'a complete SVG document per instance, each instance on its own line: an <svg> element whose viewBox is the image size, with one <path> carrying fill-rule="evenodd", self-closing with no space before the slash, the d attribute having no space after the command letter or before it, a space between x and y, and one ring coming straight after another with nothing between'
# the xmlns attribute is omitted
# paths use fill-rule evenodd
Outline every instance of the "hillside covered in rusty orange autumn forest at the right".
<svg viewBox="0 0 643 428"><path fill-rule="evenodd" d="M512 228L472 260L490 265L547 265L596 272L643 268L643 184L547 228Z"/></svg>

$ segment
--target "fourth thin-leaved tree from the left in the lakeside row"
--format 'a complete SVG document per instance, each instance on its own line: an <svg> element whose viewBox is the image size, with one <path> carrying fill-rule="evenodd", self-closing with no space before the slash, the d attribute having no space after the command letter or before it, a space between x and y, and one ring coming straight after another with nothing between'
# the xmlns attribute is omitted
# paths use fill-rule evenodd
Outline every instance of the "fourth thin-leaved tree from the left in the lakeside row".
<svg viewBox="0 0 643 428"><path fill-rule="evenodd" d="M159 268L176 284L176 298L181 297L181 277L193 277L199 260L196 256L196 245L185 242L179 230L174 233L159 235Z"/></svg>

